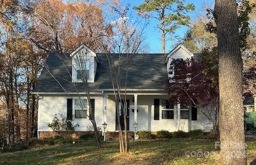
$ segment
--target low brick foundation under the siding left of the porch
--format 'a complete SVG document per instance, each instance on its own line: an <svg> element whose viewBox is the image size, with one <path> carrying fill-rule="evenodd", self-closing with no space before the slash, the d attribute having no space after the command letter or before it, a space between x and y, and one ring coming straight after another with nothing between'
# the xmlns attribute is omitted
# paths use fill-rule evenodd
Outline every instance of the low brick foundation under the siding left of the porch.
<svg viewBox="0 0 256 165"><path fill-rule="evenodd" d="M56 135L63 135L65 134L65 132L61 132L58 133L58 132L53 132L53 131L39 131L39 139L42 139L42 138L48 138L48 137L52 137L52 136L56 136ZM94 132L92 131L77 131L77 132L74 132L73 133L73 138L79 138L81 135L84 135L84 134L94 134ZM99 135L101 136L101 132L99 132Z"/></svg>

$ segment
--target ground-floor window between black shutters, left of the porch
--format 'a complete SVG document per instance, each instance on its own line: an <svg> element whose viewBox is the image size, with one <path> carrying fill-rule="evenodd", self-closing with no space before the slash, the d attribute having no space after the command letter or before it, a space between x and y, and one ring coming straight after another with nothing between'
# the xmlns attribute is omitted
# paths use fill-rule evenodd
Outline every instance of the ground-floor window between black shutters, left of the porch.
<svg viewBox="0 0 256 165"><path fill-rule="evenodd" d="M87 100L75 99L75 118L87 118Z"/></svg>

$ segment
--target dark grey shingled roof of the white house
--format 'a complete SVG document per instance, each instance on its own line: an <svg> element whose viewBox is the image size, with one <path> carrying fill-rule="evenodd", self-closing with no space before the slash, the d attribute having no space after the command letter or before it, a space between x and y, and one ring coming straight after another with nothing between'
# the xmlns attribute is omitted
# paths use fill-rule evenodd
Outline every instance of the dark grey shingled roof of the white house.
<svg viewBox="0 0 256 165"><path fill-rule="evenodd" d="M164 64L165 55L136 54L130 65L127 88L163 89L162 81L167 78L166 64ZM89 83L91 92L112 88L108 59L105 54L97 54L97 56L100 64L97 67L94 83ZM66 92L86 92L83 83L70 83L69 73L71 74L71 57L67 54L59 56L50 54L46 60L46 67L43 68L33 92L59 93L65 92L65 90ZM124 76L125 74L121 77L123 82Z"/></svg>

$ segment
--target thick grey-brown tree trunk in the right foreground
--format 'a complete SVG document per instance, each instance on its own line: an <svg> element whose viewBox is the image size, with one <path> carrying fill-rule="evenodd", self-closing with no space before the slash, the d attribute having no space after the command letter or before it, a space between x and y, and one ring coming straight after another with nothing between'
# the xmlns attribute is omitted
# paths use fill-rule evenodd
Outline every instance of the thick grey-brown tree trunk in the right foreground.
<svg viewBox="0 0 256 165"><path fill-rule="evenodd" d="M242 57L235 0L215 0L219 53L221 164L246 164Z"/></svg>

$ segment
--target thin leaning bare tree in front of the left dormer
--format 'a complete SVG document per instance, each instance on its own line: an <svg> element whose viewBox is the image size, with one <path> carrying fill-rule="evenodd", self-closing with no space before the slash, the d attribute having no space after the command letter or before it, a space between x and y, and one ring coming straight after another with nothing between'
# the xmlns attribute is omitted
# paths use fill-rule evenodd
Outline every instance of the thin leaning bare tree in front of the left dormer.
<svg viewBox="0 0 256 165"><path fill-rule="evenodd" d="M95 140L98 144L98 147L101 147L101 142L100 142L100 135L99 135L99 127L97 126L97 123L95 121L94 117L94 111L95 109L92 108L92 103L91 103L91 93L90 93L90 86L89 86L89 81L91 79L91 76L94 76L94 73L92 72L87 72L88 68L90 68L93 64L93 62L90 60L90 56L87 50L81 50L78 51L77 54L75 54L72 58L67 57L65 54L55 54L56 56L59 57L59 60L61 60L62 63L62 68L65 70L69 76L68 79L64 79L63 77L61 78L62 81L68 82L73 88L75 89L76 97L78 97L78 106L79 108L82 109L82 111L85 111L86 118L89 118L93 127L94 135L95 135ZM79 76L79 81L73 79L72 70L70 67L73 67L77 73L77 76ZM71 69L71 70L70 70ZM55 75L52 73L51 69L49 66L47 66L47 62L45 64L45 70L52 76L52 78L57 81L57 83L61 86L61 88L66 92L66 94L73 98L73 96L70 94L70 92L65 89L65 87L62 85L61 81L57 79L58 75ZM79 83L78 83L79 82ZM84 86L85 93L86 94L81 94L77 86ZM85 96L84 96L85 95ZM84 98L86 98L86 102L84 102ZM87 113L87 111L89 113Z"/></svg>

